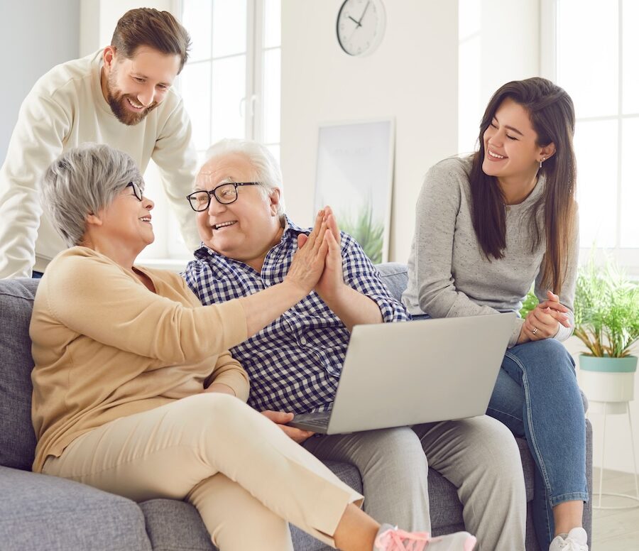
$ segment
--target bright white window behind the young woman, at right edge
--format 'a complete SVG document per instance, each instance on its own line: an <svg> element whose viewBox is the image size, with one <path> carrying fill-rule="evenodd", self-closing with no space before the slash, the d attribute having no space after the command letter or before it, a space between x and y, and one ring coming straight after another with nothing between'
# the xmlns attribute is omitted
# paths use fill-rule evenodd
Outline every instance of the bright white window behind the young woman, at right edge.
<svg viewBox="0 0 639 551"><path fill-rule="evenodd" d="M553 0L542 24L554 48L545 76L566 89L577 115L577 198L582 256L611 251L639 276L639 2Z"/></svg>

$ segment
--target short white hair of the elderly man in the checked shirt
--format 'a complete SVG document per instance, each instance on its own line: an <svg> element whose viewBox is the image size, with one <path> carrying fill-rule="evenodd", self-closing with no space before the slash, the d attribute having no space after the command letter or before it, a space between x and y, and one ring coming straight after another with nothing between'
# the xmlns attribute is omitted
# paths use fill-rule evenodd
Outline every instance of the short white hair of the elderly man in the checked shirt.
<svg viewBox="0 0 639 551"><path fill-rule="evenodd" d="M239 138L224 138L208 148L204 164L234 154L244 156L249 160L251 167L255 170L255 181L260 182L264 197L269 197L275 188L280 190L277 214L279 217L283 217L282 171L273 157L273 153L268 151L263 143Z"/></svg>

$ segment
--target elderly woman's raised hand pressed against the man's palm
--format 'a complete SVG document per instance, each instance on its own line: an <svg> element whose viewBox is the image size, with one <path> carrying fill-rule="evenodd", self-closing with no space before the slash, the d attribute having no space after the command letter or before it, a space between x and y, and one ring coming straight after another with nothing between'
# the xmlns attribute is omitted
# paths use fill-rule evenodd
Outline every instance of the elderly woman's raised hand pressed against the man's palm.
<svg viewBox="0 0 639 551"><path fill-rule="evenodd" d="M317 213L315 226L309 236L304 236L300 247L300 239L297 239L298 249L293 256L293 262L288 268L285 281L304 291L304 296L311 292L317 284L317 280L324 271L324 262L328 252L326 239L327 221L324 209Z"/></svg>

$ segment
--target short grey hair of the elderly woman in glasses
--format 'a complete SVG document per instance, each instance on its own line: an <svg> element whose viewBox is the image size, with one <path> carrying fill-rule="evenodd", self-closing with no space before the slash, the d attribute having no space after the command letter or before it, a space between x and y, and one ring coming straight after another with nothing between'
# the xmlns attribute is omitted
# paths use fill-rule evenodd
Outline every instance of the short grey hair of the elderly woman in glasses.
<svg viewBox="0 0 639 551"><path fill-rule="evenodd" d="M40 181L43 209L67 246L80 245L87 215L109 207L129 182L144 187L131 157L109 146L85 143L62 153L45 172Z"/></svg>

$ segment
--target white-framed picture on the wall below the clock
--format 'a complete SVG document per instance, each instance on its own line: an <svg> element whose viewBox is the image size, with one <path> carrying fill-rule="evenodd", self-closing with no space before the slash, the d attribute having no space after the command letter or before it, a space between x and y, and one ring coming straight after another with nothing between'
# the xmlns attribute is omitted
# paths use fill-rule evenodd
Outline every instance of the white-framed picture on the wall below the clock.
<svg viewBox="0 0 639 551"><path fill-rule="evenodd" d="M388 261L394 163L394 119L320 124L315 212L332 207L373 263Z"/></svg>

